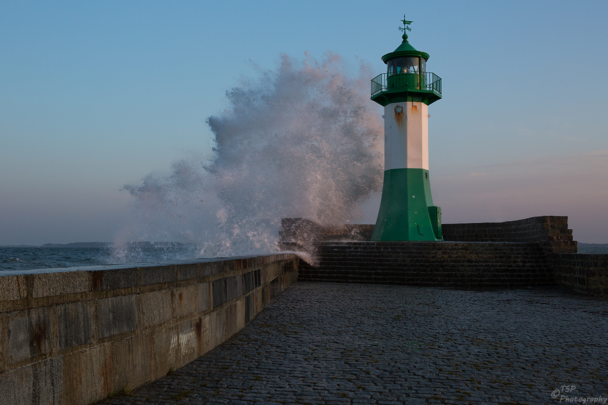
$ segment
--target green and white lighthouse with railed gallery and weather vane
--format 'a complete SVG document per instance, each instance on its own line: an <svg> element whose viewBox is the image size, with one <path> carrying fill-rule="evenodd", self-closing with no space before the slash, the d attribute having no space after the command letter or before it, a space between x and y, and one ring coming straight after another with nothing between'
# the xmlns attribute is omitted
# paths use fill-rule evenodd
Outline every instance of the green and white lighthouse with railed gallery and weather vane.
<svg viewBox="0 0 608 405"><path fill-rule="evenodd" d="M412 21L401 21L401 45L371 80L371 100L384 107L384 185L371 240L443 240L429 177L429 105L441 98L441 78L426 71L429 54L407 41Z"/></svg>

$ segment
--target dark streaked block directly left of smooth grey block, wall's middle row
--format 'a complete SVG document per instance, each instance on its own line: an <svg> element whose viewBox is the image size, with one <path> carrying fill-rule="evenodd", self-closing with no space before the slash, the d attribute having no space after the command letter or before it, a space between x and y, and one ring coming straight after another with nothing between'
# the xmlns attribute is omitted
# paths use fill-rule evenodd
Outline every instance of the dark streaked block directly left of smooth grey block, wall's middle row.
<svg viewBox="0 0 608 405"><path fill-rule="evenodd" d="M58 350L91 342L95 334L95 304L91 301L58 305Z"/></svg>

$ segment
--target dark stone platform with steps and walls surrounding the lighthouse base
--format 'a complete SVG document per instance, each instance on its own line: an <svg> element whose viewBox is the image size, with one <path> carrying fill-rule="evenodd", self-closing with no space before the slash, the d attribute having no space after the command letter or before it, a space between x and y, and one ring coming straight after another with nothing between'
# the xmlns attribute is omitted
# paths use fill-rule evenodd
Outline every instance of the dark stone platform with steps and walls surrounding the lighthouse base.
<svg viewBox="0 0 608 405"><path fill-rule="evenodd" d="M482 289L556 285L608 298L608 255L578 254L565 216L444 223L445 242L428 245L363 243L373 225L320 226L302 218L284 218L282 225L280 245L314 258L312 265L300 264L302 281Z"/></svg>

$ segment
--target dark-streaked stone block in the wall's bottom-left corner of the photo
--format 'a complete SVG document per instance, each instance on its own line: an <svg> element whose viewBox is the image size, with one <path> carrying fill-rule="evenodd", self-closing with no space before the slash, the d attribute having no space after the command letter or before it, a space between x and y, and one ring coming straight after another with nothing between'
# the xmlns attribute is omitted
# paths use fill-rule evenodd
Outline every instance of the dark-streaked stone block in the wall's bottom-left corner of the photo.
<svg viewBox="0 0 608 405"><path fill-rule="evenodd" d="M63 391L63 358L28 364L0 376L0 404L59 405Z"/></svg>

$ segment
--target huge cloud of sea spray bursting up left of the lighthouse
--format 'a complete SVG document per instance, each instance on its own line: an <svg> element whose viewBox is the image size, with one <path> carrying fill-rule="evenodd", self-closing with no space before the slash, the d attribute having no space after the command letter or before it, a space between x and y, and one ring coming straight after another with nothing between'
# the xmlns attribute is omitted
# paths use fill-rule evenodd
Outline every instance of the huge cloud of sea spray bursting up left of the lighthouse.
<svg viewBox="0 0 608 405"><path fill-rule="evenodd" d="M347 71L335 53L283 55L277 69L241 80L228 107L207 118L212 156L125 186L134 218L116 241L191 242L199 256L269 253L283 217L358 218L382 188L382 122L369 100L370 69Z"/></svg>

